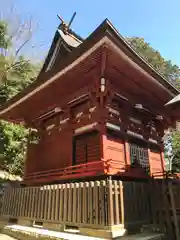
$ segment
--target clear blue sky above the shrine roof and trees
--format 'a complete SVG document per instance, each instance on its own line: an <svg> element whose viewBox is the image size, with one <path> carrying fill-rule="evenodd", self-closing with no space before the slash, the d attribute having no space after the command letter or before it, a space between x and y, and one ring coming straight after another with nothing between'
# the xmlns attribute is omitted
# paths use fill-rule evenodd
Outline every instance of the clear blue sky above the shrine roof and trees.
<svg viewBox="0 0 180 240"><path fill-rule="evenodd" d="M5 6L5 0L0 0ZM6 6L7 6L6 0ZM22 16L32 16L39 24L33 41L37 56L47 53L59 24L57 14L72 24L82 37L108 18L123 36L144 37L162 56L180 66L180 0L12 0ZM8 4L10 1L8 2Z"/></svg>

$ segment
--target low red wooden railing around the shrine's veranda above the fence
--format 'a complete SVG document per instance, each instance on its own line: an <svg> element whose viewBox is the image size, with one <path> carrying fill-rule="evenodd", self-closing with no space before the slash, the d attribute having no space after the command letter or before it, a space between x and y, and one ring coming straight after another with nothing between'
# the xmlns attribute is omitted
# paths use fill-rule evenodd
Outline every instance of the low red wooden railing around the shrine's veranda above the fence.
<svg viewBox="0 0 180 240"><path fill-rule="evenodd" d="M131 165L127 165L124 162L115 159L101 159L100 161L93 161L83 164L78 164L74 166L69 166L65 168L52 169L47 171L33 172L29 173L24 177L26 183L30 182L47 182L47 181L57 181L57 180L71 180L84 177L100 176L104 174L121 174L127 177L141 177L142 174L139 174ZM133 172L132 172L133 171ZM149 175L150 176L150 175ZM163 178L164 173L156 173L151 177L154 178Z"/></svg>

